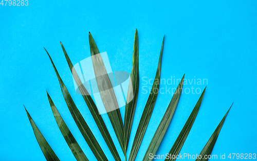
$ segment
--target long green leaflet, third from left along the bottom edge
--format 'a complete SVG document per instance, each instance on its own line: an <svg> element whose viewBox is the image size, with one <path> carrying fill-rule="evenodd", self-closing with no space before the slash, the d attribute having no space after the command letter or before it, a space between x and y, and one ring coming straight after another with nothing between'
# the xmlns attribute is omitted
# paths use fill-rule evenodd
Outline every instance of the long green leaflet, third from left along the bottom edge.
<svg viewBox="0 0 257 161"><path fill-rule="evenodd" d="M47 51L46 51L47 52ZM48 52L47 52L48 54ZM48 54L49 56L49 54ZM82 117L81 113L79 112L76 104L74 103L74 101L72 100L66 86L64 85L57 69L56 66L54 66L51 57L49 56L50 61L52 63L52 66L54 68L54 71L56 71L56 75L58 77L59 83L61 85L61 91L63 94L63 97L65 99L65 102L68 106L68 109L72 115L72 117L74 118L81 134L83 135L83 137L85 138L89 148L91 149L91 151L94 153L94 155L96 156L97 160L103 160L106 161L108 160L102 150L102 148L100 147L100 145L98 144L97 139L95 138L94 134L91 132L91 130L89 129L86 121L84 120L84 118Z"/></svg>

